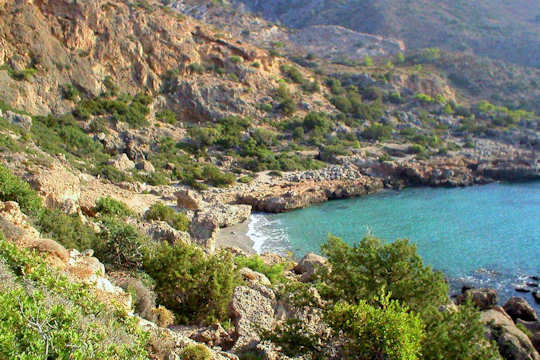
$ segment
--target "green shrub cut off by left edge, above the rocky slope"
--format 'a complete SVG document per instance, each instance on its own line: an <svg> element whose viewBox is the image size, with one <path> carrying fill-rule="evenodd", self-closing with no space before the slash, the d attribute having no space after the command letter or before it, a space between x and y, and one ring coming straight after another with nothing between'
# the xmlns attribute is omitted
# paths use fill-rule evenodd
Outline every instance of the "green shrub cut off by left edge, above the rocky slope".
<svg viewBox="0 0 540 360"><path fill-rule="evenodd" d="M36 214L41 209L41 198L26 181L13 175L0 164L0 200L16 201L27 214Z"/></svg>

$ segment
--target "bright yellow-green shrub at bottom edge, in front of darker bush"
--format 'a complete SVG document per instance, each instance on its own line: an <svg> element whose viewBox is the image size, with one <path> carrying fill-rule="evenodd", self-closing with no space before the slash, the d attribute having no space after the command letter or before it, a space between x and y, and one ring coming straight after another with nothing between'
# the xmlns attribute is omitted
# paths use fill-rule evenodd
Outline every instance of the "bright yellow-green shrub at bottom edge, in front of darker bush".
<svg viewBox="0 0 540 360"><path fill-rule="evenodd" d="M339 303L329 314L331 326L345 335L346 358L415 360L422 358L424 324L418 315L389 296L377 304Z"/></svg>

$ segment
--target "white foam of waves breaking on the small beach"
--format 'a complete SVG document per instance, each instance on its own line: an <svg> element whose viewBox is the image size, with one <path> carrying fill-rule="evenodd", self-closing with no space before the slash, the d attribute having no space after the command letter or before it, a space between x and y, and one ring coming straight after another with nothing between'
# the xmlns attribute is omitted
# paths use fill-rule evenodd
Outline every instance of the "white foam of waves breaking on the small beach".
<svg viewBox="0 0 540 360"><path fill-rule="evenodd" d="M253 250L257 254L261 254L263 250L282 252L288 243L288 237L281 222L270 220L264 214L251 214L246 235L253 241Z"/></svg>

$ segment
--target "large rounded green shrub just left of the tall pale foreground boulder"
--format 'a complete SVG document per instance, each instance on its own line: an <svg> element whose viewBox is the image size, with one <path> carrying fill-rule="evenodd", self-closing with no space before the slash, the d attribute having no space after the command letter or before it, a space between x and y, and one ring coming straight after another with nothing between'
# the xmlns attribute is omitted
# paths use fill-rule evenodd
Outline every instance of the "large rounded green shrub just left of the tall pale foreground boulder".
<svg viewBox="0 0 540 360"><path fill-rule="evenodd" d="M182 323L226 320L239 275L232 256L207 255L197 246L161 244L146 257L144 270L156 283L158 300Z"/></svg>

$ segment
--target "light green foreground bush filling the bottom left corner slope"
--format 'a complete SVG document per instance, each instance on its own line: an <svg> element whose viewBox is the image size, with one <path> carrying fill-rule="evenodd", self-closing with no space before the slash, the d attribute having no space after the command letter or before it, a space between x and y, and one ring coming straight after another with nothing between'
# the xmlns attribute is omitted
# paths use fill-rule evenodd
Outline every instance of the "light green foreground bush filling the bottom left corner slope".
<svg viewBox="0 0 540 360"><path fill-rule="evenodd" d="M21 272L21 269L31 271ZM0 233L0 358L146 359L146 335Z"/></svg>

